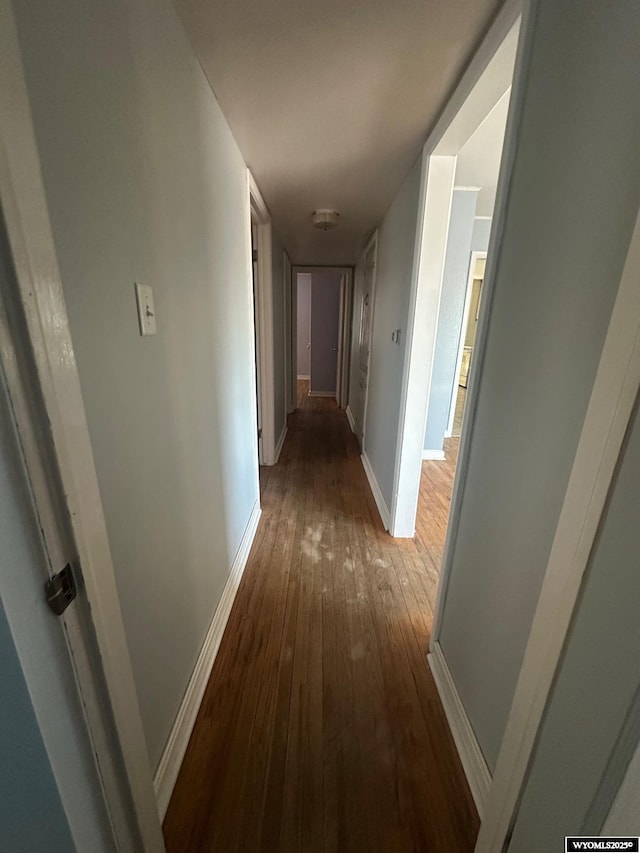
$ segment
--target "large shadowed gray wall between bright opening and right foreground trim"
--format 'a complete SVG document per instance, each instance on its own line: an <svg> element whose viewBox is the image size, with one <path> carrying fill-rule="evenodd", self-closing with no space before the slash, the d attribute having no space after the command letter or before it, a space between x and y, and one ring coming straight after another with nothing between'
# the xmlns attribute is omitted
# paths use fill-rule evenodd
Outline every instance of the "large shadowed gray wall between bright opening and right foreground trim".
<svg viewBox="0 0 640 853"><path fill-rule="evenodd" d="M640 201L638 5L534 15L439 637L490 767Z"/></svg>

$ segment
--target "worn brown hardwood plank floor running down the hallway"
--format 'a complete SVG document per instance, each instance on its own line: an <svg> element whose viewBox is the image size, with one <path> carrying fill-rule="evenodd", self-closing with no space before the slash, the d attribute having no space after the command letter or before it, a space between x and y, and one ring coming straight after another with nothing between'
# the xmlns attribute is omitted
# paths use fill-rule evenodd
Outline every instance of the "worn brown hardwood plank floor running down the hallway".
<svg viewBox="0 0 640 853"><path fill-rule="evenodd" d="M344 413L299 405L261 472L168 853L468 853L478 818L426 662L437 536L392 539Z"/></svg>

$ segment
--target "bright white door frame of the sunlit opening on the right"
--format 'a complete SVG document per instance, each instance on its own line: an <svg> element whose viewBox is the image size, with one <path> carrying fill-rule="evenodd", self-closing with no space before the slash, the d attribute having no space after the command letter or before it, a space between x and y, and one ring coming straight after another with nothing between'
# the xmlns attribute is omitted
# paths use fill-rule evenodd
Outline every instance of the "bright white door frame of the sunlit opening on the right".
<svg viewBox="0 0 640 853"><path fill-rule="evenodd" d="M483 347L483 328L490 311L490 291L494 266L492 244L499 242L505 217L506 198L513 162L514 129L526 80L523 68L523 38L525 29L523 4L528 10L533 0L506 0L491 28L474 54L460 83L449 99L440 119L424 145L418 205L418 226L414 245L407 344L402 376L400 424L396 445L393 498L390 507L392 536L411 538L415 533L418 506L422 449L427 420L431 374L436 345L436 332L442 291L444 261L447 248L451 200L455 184L456 158L459 150L477 129L478 116L484 116L504 96L511 86L511 101L500 164L498 192L494 209L491 241L488 247L488 266L485 273L485 322L478 326L478 350ZM528 14L528 12L527 12ZM507 39L522 16L520 38L512 79L506 83L492 75L489 85L476 87L492 60L507 45ZM486 298L489 296L489 298ZM420 333L417 334L417 329ZM476 365L481 359L476 357ZM477 371L472 371L477 372ZM467 391L467 422L475 407L473 381ZM468 431L467 431L468 433ZM458 475L463 479L466 465L465 430L460 443ZM461 476L462 474L462 476ZM456 489L452 499L451 521L456 516ZM451 527L451 521L449 527ZM455 526L455 524L454 524ZM445 552L446 553L446 552Z"/></svg>

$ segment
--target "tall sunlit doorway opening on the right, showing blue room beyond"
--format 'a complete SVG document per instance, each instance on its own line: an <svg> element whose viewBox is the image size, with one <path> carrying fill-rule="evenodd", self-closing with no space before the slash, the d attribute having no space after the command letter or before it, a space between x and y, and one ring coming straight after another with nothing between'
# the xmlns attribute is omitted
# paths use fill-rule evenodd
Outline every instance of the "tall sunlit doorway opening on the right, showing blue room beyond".
<svg viewBox="0 0 640 853"><path fill-rule="evenodd" d="M490 271L494 211L501 215L508 183L502 149L519 30L512 9L424 152L391 533L424 534L438 566L451 536L454 483L465 465L464 436L482 361L482 317L491 295L485 267Z"/></svg>

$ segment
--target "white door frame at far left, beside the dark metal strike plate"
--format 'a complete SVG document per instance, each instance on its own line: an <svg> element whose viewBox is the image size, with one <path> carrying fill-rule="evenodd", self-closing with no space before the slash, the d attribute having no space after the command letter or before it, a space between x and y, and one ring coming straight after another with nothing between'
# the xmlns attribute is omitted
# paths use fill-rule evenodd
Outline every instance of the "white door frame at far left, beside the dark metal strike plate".
<svg viewBox="0 0 640 853"><path fill-rule="evenodd" d="M112 818L114 846L145 853L164 850L158 805L142 728L129 650L116 589L106 523L91 449L80 380L46 195L40 171L18 37L8 0L0 3L0 110L3 122L0 146L0 203L13 255L16 287L12 291L24 317L25 341L35 366L31 387L21 386L15 351L4 326L0 352L25 460L32 482L42 483L38 471L41 448L33 430L50 435L52 458L68 509L70 533L81 567L83 594L69 608L71 624L82 608L97 644L99 662L82 630L67 630L70 658L78 691L86 709L87 730L100 768L113 766L113 739L122 755L120 774L103 773L103 795ZM7 369L9 368L9 369ZM41 395L44 423L32 423L21 399ZM52 518L44 488L34 492L41 518ZM50 540L57 534L51 522ZM43 593L44 594L44 593ZM72 614L71 611L77 611ZM104 707L97 685L103 682L110 700ZM101 701L102 700L102 701ZM112 718L112 720L109 719ZM115 732L113 732L115 729ZM123 778L124 776L124 778ZM133 803L140 834L136 843L124 815Z"/></svg>

